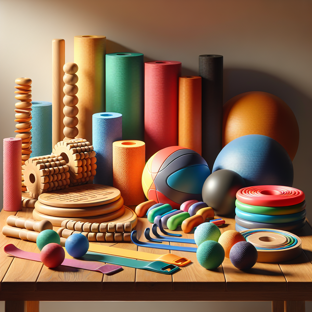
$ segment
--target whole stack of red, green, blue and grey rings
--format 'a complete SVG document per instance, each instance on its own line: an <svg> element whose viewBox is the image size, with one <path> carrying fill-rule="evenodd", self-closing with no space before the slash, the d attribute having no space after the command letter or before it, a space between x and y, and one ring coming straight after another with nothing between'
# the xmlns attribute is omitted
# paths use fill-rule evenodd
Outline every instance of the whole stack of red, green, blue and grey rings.
<svg viewBox="0 0 312 312"><path fill-rule="evenodd" d="M236 193L236 231L270 228L294 231L305 225L305 194L279 185L241 188Z"/></svg>

